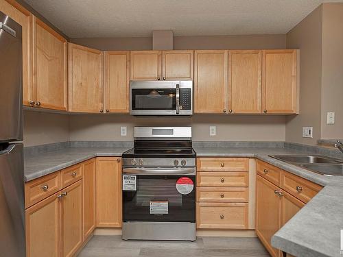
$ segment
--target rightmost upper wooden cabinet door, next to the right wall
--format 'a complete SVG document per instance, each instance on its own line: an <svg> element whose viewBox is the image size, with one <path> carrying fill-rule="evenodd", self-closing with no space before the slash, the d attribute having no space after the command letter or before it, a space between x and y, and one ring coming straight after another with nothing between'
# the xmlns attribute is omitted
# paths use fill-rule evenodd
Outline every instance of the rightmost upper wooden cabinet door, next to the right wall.
<svg viewBox="0 0 343 257"><path fill-rule="evenodd" d="M264 50L262 105L265 113L297 112L297 50Z"/></svg>

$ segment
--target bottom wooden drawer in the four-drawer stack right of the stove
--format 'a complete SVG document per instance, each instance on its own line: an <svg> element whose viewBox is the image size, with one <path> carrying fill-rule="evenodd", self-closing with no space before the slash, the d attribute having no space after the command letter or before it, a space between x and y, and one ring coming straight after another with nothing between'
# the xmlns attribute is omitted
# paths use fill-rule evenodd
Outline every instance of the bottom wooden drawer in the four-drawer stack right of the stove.
<svg viewBox="0 0 343 257"><path fill-rule="evenodd" d="M197 203L197 228L248 229L247 203Z"/></svg>

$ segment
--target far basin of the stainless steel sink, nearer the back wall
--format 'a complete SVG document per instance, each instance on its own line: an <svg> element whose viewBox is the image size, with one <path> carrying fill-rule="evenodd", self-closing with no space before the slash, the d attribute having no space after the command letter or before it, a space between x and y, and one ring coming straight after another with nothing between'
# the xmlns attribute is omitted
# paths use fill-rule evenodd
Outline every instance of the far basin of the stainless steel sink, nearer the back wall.
<svg viewBox="0 0 343 257"><path fill-rule="evenodd" d="M342 163L339 160L335 160L333 158L329 158L326 156L307 156L307 155L279 155L279 156L271 156L278 160L282 160L284 162L292 162L296 164L313 164L313 163Z"/></svg>

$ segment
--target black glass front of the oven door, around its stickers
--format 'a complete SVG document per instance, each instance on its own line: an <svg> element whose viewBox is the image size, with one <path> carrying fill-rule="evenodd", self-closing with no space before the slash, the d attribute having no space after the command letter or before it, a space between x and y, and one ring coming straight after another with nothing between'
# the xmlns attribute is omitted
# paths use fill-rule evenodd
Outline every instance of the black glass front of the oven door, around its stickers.
<svg viewBox="0 0 343 257"><path fill-rule="evenodd" d="M123 221L196 221L196 178L191 193L176 189L180 175L137 175L137 191L123 191Z"/></svg>

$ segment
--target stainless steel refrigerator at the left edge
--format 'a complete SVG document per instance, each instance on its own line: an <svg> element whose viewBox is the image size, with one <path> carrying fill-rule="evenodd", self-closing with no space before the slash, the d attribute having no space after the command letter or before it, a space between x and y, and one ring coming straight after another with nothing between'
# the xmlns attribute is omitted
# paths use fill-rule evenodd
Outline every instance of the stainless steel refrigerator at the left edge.
<svg viewBox="0 0 343 257"><path fill-rule="evenodd" d="M0 12L0 256L25 256L21 25Z"/></svg>

